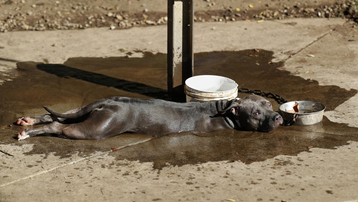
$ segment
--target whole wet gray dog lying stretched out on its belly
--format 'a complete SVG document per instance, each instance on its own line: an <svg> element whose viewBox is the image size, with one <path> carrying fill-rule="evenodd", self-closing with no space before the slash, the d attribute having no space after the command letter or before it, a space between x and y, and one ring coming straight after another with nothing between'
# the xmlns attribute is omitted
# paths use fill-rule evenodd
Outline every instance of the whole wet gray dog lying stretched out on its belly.
<svg viewBox="0 0 358 202"><path fill-rule="evenodd" d="M50 124L26 128L17 134L18 140L44 133L71 139L102 139L124 132L151 136L224 128L269 132L282 124L282 117L272 110L271 103L258 95L204 103L111 97L64 114L44 108L50 114L23 117L16 124Z"/></svg>

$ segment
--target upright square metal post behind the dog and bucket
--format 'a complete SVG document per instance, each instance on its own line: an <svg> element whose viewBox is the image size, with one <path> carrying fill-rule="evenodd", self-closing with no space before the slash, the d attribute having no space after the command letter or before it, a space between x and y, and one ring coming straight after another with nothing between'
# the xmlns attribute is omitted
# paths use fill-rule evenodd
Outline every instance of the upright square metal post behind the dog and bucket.
<svg viewBox="0 0 358 202"><path fill-rule="evenodd" d="M168 95L185 102L185 80L193 76L193 0L168 0Z"/></svg>

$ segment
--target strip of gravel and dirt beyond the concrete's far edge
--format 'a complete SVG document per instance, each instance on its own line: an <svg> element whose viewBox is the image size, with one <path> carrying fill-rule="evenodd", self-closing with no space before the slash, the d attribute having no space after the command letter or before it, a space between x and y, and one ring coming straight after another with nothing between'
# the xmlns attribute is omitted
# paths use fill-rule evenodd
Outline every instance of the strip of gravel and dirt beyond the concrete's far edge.
<svg viewBox="0 0 358 202"><path fill-rule="evenodd" d="M205 0L206 1L206 0ZM207 1L208 6L215 3ZM47 4L38 3L28 5L26 0L0 0L1 4L16 4L14 10L0 19L0 32L17 30L67 30L86 29L92 27L109 27L110 29L126 29L132 26L153 26L166 24L166 13L150 12L144 9L139 13L120 11L120 8L105 6L91 6L85 3L64 3L62 1ZM225 8L224 10L197 11L194 21L237 21L237 20L274 20L289 18L348 18L358 21L358 0L339 1L334 5L321 5L316 8L306 7L300 3L295 6L282 6L272 9L255 10L247 6L245 9ZM260 21L261 22L261 21Z"/></svg>

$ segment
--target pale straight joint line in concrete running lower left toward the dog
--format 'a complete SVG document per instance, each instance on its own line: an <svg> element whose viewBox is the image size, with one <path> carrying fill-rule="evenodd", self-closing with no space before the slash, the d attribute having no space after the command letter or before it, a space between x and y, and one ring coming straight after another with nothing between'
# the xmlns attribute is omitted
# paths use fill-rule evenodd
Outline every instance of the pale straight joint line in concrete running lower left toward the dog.
<svg viewBox="0 0 358 202"><path fill-rule="evenodd" d="M150 139L147 139L147 140L144 140L144 141L139 141L139 142L127 144L127 145L122 146L122 147L117 148L117 149L118 149L118 150L124 149L124 148L129 147L129 146L134 146L134 145L137 145L137 144L141 144L141 143L145 143L145 142L151 141L151 140L153 140L153 139L156 139L156 138L153 137L153 138L150 138ZM117 151L117 150L115 150L115 151ZM77 159L76 161L64 163L64 164L62 164L61 166L53 167L53 168L44 170L44 171L42 171L42 172L38 172L38 173L29 175L29 176L26 176L26 177L23 177L23 178L16 179L16 180L11 181L11 182L7 182L7 183L4 183L4 184L1 184L0 187L5 187L5 186L8 186L8 185L10 185L10 184L14 184L14 183L16 183L16 182L23 181L23 180L25 180L25 179L29 179L29 178L32 178L32 177L35 177L35 176L38 176L38 175L41 175L41 174L45 174L45 173L54 171L55 169L58 169L58 168L63 168L63 167L65 167L65 166L69 166L69 165L72 165L72 164L74 164L74 163L78 163L78 162L80 162L80 161L86 160L86 159L91 159L91 158L93 158L93 157L102 156L102 155L105 155L105 154L108 154L108 153L111 153L111 152L115 152L115 151L113 151L113 150L111 149L111 150L106 151L106 152L100 152L100 153L97 153L97 154L93 154L93 155L91 155L91 156L89 156L89 157L82 157L82 158Z"/></svg>

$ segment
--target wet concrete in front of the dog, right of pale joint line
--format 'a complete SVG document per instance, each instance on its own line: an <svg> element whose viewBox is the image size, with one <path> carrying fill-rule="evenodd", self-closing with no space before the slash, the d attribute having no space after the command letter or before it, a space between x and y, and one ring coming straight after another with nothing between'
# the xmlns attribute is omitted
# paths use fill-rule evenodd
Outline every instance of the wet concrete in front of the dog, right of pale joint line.
<svg viewBox="0 0 358 202"><path fill-rule="evenodd" d="M182 133L153 139L111 153L117 160L154 162L153 168L215 161L265 161L278 155L295 156L311 147L335 149L358 141L358 128L323 122L313 126L281 126L269 133L219 130ZM282 165L285 162L281 162Z"/></svg>

